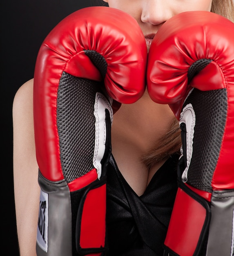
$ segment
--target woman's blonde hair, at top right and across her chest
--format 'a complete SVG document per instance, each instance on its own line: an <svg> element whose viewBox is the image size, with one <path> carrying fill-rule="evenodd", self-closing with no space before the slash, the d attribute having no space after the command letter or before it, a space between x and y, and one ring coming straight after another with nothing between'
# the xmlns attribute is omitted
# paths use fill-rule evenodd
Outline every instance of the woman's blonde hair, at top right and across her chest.
<svg viewBox="0 0 234 256"><path fill-rule="evenodd" d="M234 22L233 0L213 0L211 11ZM175 118L170 129L160 138L157 145L154 145L147 154L143 155L141 160L148 168L151 168L172 154L180 154L181 144L181 130L178 120Z"/></svg>

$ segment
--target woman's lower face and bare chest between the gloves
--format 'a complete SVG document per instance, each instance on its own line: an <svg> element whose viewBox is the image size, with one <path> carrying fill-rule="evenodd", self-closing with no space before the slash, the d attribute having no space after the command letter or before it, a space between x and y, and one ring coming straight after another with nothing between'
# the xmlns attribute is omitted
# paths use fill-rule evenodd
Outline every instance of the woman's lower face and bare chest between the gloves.
<svg viewBox="0 0 234 256"><path fill-rule="evenodd" d="M211 0L107 0L109 7L129 13L138 22L147 48L158 29L172 16L184 11L210 11ZM140 157L169 129L173 114L167 105L152 102L147 90L134 104L122 105L112 126L112 153L125 180L142 195L161 161L147 169ZM152 129L152 127L154 127ZM126 157L127 156L127 157Z"/></svg>

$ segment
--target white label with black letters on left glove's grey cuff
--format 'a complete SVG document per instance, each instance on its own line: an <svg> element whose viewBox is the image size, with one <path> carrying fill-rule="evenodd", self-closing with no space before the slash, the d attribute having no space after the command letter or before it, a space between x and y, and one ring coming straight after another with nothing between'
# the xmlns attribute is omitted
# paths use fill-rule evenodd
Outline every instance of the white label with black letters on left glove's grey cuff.
<svg viewBox="0 0 234 256"><path fill-rule="evenodd" d="M43 251L48 251L48 194L43 191L40 191L37 244Z"/></svg>

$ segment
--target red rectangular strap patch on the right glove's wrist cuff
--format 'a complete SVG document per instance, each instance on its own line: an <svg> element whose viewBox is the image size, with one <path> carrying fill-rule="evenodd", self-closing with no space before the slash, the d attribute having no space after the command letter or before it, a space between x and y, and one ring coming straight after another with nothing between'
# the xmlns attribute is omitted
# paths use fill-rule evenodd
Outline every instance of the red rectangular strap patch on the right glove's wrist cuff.
<svg viewBox="0 0 234 256"><path fill-rule="evenodd" d="M179 188L164 244L178 255L192 256L205 217L205 208Z"/></svg>

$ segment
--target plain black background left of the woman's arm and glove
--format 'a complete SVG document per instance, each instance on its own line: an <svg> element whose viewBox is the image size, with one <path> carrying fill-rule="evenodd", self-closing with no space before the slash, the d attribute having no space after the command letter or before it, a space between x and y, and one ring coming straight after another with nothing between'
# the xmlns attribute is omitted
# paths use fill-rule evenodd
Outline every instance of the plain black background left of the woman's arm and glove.
<svg viewBox="0 0 234 256"><path fill-rule="evenodd" d="M19 255L13 193L12 103L33 78L39 47L49 31L70 13L101 0L2 0L1 18L1 255Z"/></svg>

